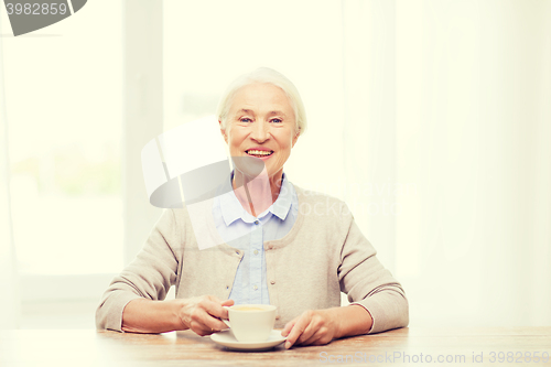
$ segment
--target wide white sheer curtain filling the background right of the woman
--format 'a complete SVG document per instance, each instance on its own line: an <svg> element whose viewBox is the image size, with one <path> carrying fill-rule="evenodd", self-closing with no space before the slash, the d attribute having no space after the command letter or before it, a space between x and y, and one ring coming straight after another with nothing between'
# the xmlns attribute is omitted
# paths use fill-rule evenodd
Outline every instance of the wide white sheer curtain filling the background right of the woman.
<svg viewBox="0 0 551 367"><path fill-rule="evenodd" d="M346 201L410 325L551 324L551 2L342 4Z"/></svg>

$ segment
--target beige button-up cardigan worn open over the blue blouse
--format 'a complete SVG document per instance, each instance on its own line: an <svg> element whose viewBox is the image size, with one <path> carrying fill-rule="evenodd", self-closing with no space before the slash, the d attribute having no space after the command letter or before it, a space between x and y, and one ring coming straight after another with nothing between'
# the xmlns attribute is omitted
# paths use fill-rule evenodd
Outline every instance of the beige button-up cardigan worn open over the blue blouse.
<svg viewBox="0 0 551 367"><path fill-rule="evenodd" d="M341 305L341 291L374 319L370 333L407 326L408 301L342 201L294 186L299 215L282 239L264 242L276 327L305 310ZM204 202L205 228L217 236L212 201ZM218 241L223 244L224 241ZM166 209L143 249L117 276L96 312L98 328L121 331L122 311L133 299L164 300L212 294L228 299L244 253L226 244L199 250L186 208Z"/></svg>

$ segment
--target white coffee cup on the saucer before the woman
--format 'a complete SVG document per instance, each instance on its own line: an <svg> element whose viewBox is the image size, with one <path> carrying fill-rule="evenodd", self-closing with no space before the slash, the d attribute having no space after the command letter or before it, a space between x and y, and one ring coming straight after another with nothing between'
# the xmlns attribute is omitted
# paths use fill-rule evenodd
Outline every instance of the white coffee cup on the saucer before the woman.
<svg viewBox="0 0 551 367"><path fill-rule="evenodd" d="M228 309L229 322L238 342L264 342L276 323L276 306L270 304L237 304Z"/></svg>

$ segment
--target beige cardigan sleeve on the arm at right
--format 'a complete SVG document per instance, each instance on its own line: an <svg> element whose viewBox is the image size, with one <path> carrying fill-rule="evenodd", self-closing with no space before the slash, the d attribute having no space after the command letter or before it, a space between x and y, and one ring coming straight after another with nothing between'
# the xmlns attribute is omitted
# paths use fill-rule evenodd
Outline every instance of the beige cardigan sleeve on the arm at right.
<svg viewBox="0 0 551 367"><path fill-rule="evenodd" d="M371 315L369 334L408 326L409 306L401 284L379 262L352 215L347 219L338 269L341 290L352 304L361 305Z"/></svg>

